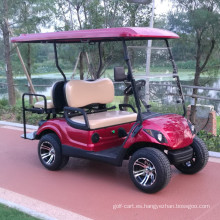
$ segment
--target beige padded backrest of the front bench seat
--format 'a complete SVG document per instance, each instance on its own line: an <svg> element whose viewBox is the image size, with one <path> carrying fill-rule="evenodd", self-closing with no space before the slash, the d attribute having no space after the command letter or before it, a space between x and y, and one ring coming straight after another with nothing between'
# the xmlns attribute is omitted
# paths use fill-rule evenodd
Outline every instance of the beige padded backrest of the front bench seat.
<svg viewBox="0 0 220 220"><path fill-rule="evenodd" d="M95 81L70 80L65 85L65 91L68 106L74 108L107 104L114 99L114 85L108 78Z"/></svg>

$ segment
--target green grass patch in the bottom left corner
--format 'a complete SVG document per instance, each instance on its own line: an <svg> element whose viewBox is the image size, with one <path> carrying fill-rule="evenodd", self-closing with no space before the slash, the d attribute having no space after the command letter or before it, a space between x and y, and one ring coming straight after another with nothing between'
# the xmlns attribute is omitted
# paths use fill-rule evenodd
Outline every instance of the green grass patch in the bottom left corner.
<svg viewBox="0 0 220 220"><path fill-rule="evenodd" d="M0 219L1 220L37 220L30 215L17 211L16 209L9 208L0 204Z"/></svg>

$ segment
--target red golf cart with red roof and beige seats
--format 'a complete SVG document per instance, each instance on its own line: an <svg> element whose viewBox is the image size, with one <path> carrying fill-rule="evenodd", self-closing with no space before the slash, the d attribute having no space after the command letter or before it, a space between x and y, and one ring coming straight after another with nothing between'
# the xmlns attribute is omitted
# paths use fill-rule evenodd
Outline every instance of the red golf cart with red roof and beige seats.
<svg viewBox="0 0 220 220"><path fill-rule="evenodd" d="M139 27L23 34L12 38L11 41L16 43L45 43L45 46L52 43L56 66L63 76L62 81L52 86L51 100L44 95L30 93L24 93L22 97L23 138L39 140L38 156L43 166L59 170L67 164L69 157L93 159L115 166L129 160L131 180L146 193L155 193L168 184L171 164L186 174L203 169L208 161L208 151L196 136L194 126L184 117L184 96L168 43L168 39L175 38L178 35L170 31ZM173 69L171 77L178 88L183 115L152 112L149 103L141 97L139 91L146 81L133 77L127 46L132 40L165 42ZM105 42L122 45L127 74L123 66L114 67L114 81L125 82L124 95L133 95L134 105L109 104L115 96L111 79L67 80L59 66L57 44L98 45L101 63L101 46ZM43 101L31 108L26 107L27 96L41 96ZM27 111L47 115L33 133L26 133Z"/></svg>

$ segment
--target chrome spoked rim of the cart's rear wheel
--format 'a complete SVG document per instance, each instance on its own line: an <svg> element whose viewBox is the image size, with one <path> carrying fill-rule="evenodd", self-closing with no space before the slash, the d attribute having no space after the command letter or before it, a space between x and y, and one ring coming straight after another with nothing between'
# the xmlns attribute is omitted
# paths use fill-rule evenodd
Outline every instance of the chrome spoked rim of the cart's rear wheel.
<svg viewBox="0 0 220 220"><path fill-rule="evenodd" d="M55 150L54 147L51 145L50 142L44 141L40 145L40 156L42 161L47 164L51 165L55 161Z"/></svg>

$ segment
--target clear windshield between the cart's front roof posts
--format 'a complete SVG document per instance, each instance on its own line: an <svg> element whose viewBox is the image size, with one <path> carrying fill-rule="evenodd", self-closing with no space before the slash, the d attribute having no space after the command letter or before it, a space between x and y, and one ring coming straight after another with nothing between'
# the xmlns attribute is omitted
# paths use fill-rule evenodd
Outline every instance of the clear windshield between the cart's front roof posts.
<svg viewBox="0 0 220 220"><path fill-rule="evenodd" d="M177 78L164 40L128 45L142 112L183 114Z"/></svg>

